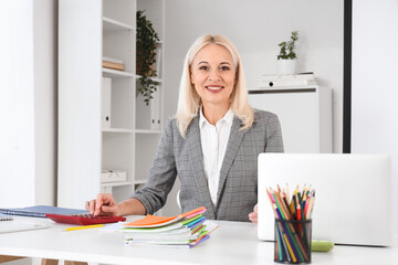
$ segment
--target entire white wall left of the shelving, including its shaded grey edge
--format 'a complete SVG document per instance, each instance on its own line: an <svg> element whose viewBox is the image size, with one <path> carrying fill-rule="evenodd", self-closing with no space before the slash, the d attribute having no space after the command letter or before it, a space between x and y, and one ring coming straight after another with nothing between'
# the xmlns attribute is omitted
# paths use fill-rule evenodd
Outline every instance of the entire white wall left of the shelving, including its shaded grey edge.
<svg viewBox="0 0 398 265"><path fill-rule="evenodd" d="M53 204L54 0L0 8L0 205Z"/></svg>

